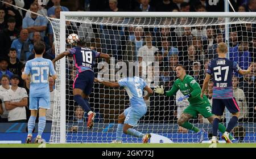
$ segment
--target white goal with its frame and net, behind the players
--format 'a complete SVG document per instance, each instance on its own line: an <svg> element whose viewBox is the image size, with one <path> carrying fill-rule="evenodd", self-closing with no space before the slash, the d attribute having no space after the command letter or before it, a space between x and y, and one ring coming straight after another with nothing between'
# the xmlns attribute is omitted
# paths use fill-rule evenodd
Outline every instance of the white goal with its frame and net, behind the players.
<svg viewBox="0 0 256 159"><path fill-rule="evenodd" d="M216 17L213 17L216 16ZM218 16L219 15L219 16ZM224 16L225 15L225 16ZM255 15L255 14L254 14ZM217 44L226 42L228 58L236 61L242 69L254 65L248 76L234 74L234 97L241 114L233 136L241 142L256 141L255 81L256 19L253 14L225 13L144 13L144 12L61 12L60 19L52 19L56 54L71 46L65 41L71 33L85 37L88 47L110 55L109 63L96 60L95 76L107 81L122 78L126 64L139 63L140 74L154 89L164 85L165 91L176 80L175 66L187 67L187 74L203 85L205 70L211 59L217 57ZM115 139L118 115L129 107L125 89L108 88L94 83L90 94L90 108L96 112L92 130L86 127L87 113L73 100L72 84L76 70L72 57L56 62L59 75L56 80L55 110L52 143L110 143ZM212 103L212 83L206 93ZM177 102L174 97L153 94L147 101L147 113L139 120L136 130L152 133L151 143L198 142L196 132L179 127L177 118L189 105ZM221 123L227 126L230 113L225 111ZM200 114L189 120L212 136L212 125ZM221 132L219 131L219 135ZM221 140L221 139L220 139ZM123 143L141 143L142 140L123 134Z"/></svg>

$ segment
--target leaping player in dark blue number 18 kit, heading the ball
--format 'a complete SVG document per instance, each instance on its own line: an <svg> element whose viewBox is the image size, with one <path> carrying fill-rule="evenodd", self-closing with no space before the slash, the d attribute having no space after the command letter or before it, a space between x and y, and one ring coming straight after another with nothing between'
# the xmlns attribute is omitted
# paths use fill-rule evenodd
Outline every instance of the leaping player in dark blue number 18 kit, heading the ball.
<svg viewBox="0 0 256 159"><path fill-rule="evenodd" d="M98 53L97 51L89 48L84 48L84 46L85 41L83 38L82 40L77 41L77 46L75 48L64 51L63 53L57 55L52 62L55 63L67 55L73 55L75 66L77 68L77 75L73 84L74 100L88 113L87 127L92 128L96 114L90 110L88 97L90 96L93 87L94 61L96 58L105 58L106 61L109 61L109 55Z"/></svg>

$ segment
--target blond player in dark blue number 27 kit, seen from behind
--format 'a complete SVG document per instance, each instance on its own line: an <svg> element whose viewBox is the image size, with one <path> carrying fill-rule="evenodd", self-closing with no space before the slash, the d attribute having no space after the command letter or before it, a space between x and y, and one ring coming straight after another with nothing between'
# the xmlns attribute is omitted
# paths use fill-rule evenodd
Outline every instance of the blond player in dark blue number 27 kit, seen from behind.
<svg viewBox="0 0 256 159"><path fill-rule="evenodd" d="M213 75L212 113L216 116L213 120L212 143L217 143L216 136L218 134L218 127L220 126L219 122L225 106L232 113L232 118L228 123L228 128L226 128L226 131L222 135L222 139L226 143L232 143L229 138L229 132L236 126L240 111L236 99L233 97L233 71L241 75L246 75L251 72L251 66L247 70L242 70L236 62L227 59L226 53L228 52L228 46L224 42L218 44L217 52L218 58L213 59L208 65L207 75L201 91L201 98L204 97L205 88L208 87L209 80Z"/></svg>

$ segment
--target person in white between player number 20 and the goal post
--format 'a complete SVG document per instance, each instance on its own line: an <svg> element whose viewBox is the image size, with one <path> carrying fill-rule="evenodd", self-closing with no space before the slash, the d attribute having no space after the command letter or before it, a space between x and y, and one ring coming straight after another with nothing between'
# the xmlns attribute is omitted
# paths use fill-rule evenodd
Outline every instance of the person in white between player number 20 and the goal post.
<svg viewBox="0 0 256 159"><path fill-rule="evenodd" d="M53 108L54 108L54 86L55 80L52 77L49 77L49 91L50 91L50 98L51 98L51 106L50 109L46 110L46 122L52 122L53 117Z"/></svg>

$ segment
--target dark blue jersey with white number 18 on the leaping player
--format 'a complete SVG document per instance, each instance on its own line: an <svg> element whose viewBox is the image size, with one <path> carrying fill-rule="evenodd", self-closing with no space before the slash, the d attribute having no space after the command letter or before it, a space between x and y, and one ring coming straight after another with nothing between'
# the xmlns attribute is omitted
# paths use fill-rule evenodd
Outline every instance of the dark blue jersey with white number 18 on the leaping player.
<svg viewBox="0 0 256 159"><path fill-rule="evenodd" d="M80 46L70 49L69 53L73 55L78 73L88 70L93 72L94 61L100 57L100 53L97 51Z"/></svg>

